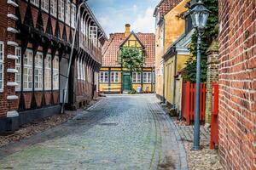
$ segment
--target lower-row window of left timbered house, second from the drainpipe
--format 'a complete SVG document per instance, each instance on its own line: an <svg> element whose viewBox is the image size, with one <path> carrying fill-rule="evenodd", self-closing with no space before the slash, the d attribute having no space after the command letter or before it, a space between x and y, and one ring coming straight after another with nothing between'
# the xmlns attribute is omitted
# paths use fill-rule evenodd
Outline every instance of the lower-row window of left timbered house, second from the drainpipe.
<svg viewBox="0 0 256 170"><path fill-rule="evenodd" d="M48 54L44 59L44 87L51 89L51 56Z"/></svg>

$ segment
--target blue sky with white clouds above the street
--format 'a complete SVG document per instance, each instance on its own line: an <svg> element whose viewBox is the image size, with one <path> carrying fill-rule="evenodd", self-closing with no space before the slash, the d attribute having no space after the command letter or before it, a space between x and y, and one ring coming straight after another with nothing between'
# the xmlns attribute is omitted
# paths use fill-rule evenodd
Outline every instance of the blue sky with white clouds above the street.
<svg viewBox="0 0 256 170"><path fill-rule="evenodd" d="M102 28L109 33L131 31L154 33L154 8L160 0L88 0Z"/></svg>

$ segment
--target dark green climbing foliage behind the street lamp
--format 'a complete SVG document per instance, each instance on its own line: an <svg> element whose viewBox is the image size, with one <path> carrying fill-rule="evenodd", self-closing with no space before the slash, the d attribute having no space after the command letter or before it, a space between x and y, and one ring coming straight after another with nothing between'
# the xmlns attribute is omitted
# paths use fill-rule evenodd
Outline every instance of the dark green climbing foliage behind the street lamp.
<svg viewBox="0 0 256 170"><path fill-rule="evenodd" d="M218 0L203 0L203 3L211 11L201 45L201 82L207 82L207 48L211 45L212 40L218 38ZM189 48L193 56L188 59L185 68L184 79L189 82L195 82L196 80L196 46L197 32L192 36Z"/></svg>

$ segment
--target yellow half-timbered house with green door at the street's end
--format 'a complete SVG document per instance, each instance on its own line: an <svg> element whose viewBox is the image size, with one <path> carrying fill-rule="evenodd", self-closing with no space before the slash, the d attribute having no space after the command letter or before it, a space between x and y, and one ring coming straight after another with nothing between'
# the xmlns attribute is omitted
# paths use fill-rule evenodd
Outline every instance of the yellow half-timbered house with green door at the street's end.
<svg viewBox="0 0 256 170"><path fill-rule="evenodd" d="M154 92L154 34L135 33L125 25L124 33L110 34L103 47L103 64L99 77L100 93L123 93L142 88L144 93ZM119 65L122 48L138 48L144 55L142 71L130 72ZM132 74L132 75L131 75Z"/></svg>

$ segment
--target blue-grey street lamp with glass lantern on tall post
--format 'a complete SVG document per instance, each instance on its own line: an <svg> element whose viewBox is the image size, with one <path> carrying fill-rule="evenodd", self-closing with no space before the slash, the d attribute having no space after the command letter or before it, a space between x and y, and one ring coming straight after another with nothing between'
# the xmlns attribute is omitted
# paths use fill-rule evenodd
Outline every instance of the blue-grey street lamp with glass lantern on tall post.
<svg viewBox="0 0 256 170"><path fill-rule="evenodd" d="M201 83L201 36L206 27L210 11L199 0L190 9L192 24L197 31L195 126L192 150L200 150L200 83Z"/></svg>

